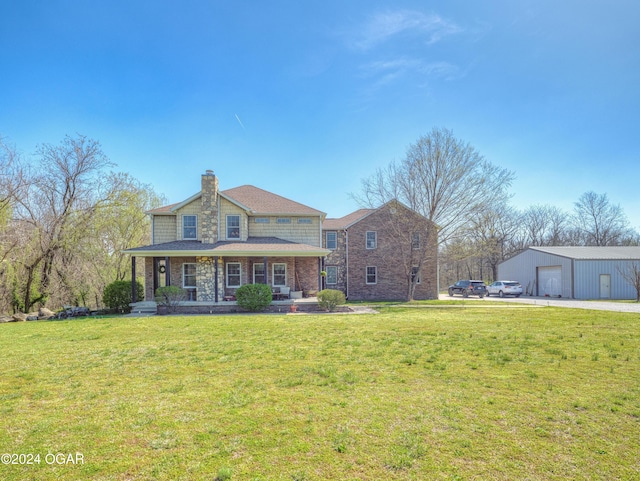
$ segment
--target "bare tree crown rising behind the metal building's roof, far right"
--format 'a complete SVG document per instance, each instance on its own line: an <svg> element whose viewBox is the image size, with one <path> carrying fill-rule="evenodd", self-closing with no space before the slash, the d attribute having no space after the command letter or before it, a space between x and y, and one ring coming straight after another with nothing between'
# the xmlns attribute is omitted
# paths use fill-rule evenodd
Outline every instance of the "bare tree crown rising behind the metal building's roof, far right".
<svg viewBox="0 0 640 481"><path fill-rule="evenodd" d="M633 234L620 205L612 204L607 194L585 192L575 203L573 224L584 245L620 245Z"/></svg>

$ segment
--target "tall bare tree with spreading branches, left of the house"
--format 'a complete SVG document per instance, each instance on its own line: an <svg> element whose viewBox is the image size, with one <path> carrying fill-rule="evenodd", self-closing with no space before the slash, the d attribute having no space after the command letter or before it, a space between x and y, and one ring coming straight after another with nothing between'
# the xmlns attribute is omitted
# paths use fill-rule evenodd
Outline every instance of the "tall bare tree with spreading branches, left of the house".
<svg viewBox="0 0 640 481"><path fill-rule="evenodd" d="M87 238L90 221L104 202L99 174L111 165L100 144L84 136L67 136L59 146L42 145L37 154L38 168L27 175L25 191L15 199L17 214L32 234L22 259L20 304L25 311L46 303L54 275L67 284L60 266L72 264L79 241Z"/></svg>

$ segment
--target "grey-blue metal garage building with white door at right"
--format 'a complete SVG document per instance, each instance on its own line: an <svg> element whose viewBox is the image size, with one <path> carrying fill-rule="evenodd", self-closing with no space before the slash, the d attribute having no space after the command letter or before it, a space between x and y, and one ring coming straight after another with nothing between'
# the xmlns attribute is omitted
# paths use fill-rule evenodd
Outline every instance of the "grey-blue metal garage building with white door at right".
<svg viewBox="0 0 640 481"><path fill-rule="evenodd" d="M498 265L500 280L529 295L573 299L635 299L620 272L640 266L640 247L529 247Z"/></svg>

